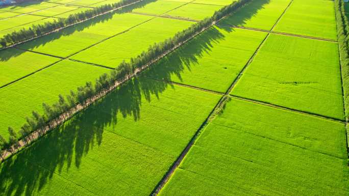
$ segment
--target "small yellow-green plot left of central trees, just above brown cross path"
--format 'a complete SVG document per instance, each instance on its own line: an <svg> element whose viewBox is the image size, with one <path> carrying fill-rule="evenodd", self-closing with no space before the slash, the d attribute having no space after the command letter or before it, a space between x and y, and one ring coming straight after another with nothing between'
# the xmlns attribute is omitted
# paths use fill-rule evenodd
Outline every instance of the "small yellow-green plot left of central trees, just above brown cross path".
<svg viewBox="0 0 349 196"><path fill-rule="evenodd" d="M222 6L214 6L214 5L205 5L205 4L187 4L175 10L172 10L166 15L181 17L181 18L190 18L194 20L202 20L206 17L210 17L213 13Z"/></svg>

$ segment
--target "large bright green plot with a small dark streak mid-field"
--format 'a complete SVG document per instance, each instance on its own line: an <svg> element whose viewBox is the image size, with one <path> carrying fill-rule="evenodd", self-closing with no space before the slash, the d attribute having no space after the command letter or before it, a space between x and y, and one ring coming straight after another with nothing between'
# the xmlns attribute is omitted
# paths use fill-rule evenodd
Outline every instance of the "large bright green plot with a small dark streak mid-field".
<svg viewBox="0 0 349 196"><path fill-rule="evenodd" d="M232 94L343 119L337 43L270 35Z"/></svg>

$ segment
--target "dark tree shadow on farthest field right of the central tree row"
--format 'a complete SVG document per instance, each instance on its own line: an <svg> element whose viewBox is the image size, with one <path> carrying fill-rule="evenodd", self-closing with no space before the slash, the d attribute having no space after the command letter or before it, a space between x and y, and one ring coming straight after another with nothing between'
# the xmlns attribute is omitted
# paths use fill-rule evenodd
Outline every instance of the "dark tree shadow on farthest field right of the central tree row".
<svg viewBox="0 0 349 196"><path fill-rule="evenodd" d="M259 10L264 9L264 6L269 3L270 0L252 1L248 5L236 11L233 15L219 21L218 27L230 32L232 31L231 26L243 26L246 24L246 21L250 20Z"/></svg>

